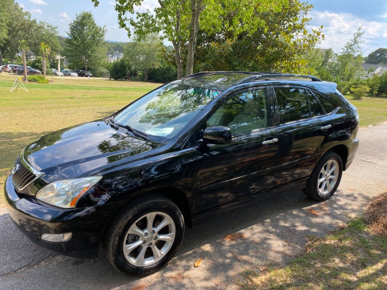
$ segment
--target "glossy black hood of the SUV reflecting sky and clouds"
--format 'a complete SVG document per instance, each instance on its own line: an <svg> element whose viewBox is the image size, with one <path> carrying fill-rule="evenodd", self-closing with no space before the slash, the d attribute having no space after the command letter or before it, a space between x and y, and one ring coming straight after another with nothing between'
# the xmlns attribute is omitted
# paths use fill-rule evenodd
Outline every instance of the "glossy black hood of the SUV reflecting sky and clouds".
<svg viewBox="0 0 387 290"><path fill-rule="evenodd" d="M23 154L34 169L62 172L59 177L68 178L161 145L116 131L103 121L94 121L45 135L28 145Z"/></svg>

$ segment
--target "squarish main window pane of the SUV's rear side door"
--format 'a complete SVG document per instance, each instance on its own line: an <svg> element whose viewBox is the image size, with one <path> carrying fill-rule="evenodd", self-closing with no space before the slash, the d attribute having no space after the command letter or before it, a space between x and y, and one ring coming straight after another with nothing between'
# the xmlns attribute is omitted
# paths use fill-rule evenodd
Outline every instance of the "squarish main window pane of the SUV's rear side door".
<svg viewBox="0 0 387 290"><path fill-rule="evenodd" d="M274 91L277 97L279 121L281 124L310 118L305 89L274 87Z"/></svg>

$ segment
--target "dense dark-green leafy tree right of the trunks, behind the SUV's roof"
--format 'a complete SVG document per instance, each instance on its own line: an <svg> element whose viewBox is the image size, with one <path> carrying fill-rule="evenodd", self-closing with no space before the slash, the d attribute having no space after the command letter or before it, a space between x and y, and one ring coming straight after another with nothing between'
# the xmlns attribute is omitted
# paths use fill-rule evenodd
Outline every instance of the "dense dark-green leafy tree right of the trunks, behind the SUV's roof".
<svg viewBox="0 0 387 290"><path fill-rule="evenodd" d="M223 18L220 31L200 30L197 38L195 70L250 70L305 73L301 58L323 38L321 28L308 32L312 4L289 0L281 10L253 7L254 17L263 24L230 31L236 13Z"/></svg>

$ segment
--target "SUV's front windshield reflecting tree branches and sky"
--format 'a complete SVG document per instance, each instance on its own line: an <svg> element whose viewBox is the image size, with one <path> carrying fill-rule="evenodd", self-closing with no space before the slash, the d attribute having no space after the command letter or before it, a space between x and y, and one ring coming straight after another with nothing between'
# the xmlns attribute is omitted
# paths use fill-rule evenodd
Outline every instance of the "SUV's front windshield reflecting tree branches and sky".
<svg viewBox="0 0 387 290"><path fill-rule="evenodd" d="M113 121L148 135L171 138L220 91L168 84L118 113Z"/></svg>

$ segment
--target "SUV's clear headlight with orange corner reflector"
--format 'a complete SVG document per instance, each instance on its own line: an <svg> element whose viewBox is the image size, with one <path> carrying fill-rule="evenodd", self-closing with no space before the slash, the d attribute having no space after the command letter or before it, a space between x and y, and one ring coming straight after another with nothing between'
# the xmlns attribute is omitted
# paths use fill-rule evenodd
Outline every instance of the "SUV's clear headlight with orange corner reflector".
<svg viewBox="0 0 387 290"><path fill-rule="evenodd" d="M36 193L36 199L61 208L73 208L77 200L102 176L88 176L53 181Z"/></svg>

